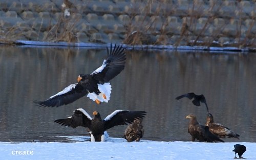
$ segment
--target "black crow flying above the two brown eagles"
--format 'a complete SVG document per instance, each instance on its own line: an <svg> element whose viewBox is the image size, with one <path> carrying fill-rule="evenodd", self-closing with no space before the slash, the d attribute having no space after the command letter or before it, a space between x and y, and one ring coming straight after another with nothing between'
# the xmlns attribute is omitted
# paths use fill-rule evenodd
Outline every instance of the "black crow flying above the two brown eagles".
<svg viewBox="0 0 256 160"><path fill-rule="evenodd" d="M208 106L207 106L207 103L206 103L206 99L204 98L204 95L196 95L194 93L188 93L188 94L185 94L185 95L181 95L181 96L178 96L176 97L176 100L179 100L183 97L187 97L189 98L190 100L194 98L194 100L192 101L192 103L196 106L200 106L200 102L204 103L205 106L206 106L206 109L207 109L207 112L209 112L209 109L208 109Z"/></svg>

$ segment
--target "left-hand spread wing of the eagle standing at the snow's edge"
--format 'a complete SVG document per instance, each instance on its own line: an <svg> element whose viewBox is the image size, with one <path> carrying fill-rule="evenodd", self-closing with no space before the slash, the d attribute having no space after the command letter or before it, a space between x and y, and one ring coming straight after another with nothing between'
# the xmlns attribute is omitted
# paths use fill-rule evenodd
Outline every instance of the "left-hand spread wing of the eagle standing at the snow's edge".
<svg viewBox="0 0 256 160"><path fill-rule="evenodd" d="M78 126L90 127L91 121L91 116L85 110L79 108L74 110L74 113L71 117L55 120L54 122L60 124L61 126L76 128Z"/></svg>

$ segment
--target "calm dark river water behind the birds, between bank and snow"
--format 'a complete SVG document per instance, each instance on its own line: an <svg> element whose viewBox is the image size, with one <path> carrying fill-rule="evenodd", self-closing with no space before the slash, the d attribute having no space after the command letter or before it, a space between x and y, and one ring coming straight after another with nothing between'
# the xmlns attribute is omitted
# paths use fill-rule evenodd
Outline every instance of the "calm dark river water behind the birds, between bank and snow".
<svg viewBox="0 0 256 160"><path fill-rule="evenodd" d="M55 119L84 108L101 117L116 109L145 110L144 139L190 141L185 116L194 113L205 123L206 109L181 94L204 94L215 122L256 142L256 54L184 51L129 51L124 71L111 80L109 103L88 98L54 108L34 106L91 73L106 58L105 49L19 48L0 46L0 141L66 141L60 135L88 135L86 128L62 127ZM108 130L121 138L125 126Z"/></svg>

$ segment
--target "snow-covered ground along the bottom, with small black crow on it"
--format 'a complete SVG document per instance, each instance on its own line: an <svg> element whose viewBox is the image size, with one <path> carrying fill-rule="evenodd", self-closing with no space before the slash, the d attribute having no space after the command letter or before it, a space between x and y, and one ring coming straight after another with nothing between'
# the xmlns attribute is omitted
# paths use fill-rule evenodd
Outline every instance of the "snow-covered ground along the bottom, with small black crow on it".
<svg viewBox="0 0 256 160"><path fill-rule="evenodd" d="M74 143L0 142L1 159L233 159L237 143L159 142L141 140L127 143L109 138L107 142L88 142L84 137L70 138ZM88 139L88 138L87 138ZM256 159L256 143L241 142L247 150L243 157ZM237 154L238 157L238 154Z"/></svg>

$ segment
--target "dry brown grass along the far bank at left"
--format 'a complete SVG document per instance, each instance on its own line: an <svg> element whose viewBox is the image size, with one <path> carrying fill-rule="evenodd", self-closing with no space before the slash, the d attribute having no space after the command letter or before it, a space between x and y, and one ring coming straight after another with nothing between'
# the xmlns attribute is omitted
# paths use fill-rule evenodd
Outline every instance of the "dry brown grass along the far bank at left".
<svg viewBox="0 0 256 160"><path fill-rule="evenodd" d="M80 19L81 17L79 16L75 18L72 18L71 16L65 17L62 12L55 24L52 23L53 19L48 20L48 27L43 27L45 19L42 18L39 28L36 23L27 27L15 25L9 28L1 28L0 42L14 43L16 40L21 39L53 42L77 42L75 27Z"/></svg>

